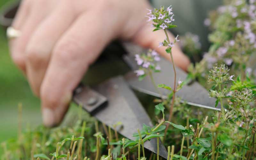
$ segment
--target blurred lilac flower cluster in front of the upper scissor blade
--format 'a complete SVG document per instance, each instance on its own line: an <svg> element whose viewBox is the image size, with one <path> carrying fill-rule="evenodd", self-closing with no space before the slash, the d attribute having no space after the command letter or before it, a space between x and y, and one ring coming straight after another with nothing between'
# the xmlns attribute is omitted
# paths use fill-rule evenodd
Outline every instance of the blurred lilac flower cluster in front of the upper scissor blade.
<svg viewBox="0 0 256 160"><path fill-rule="evenodd" d="M145 76L147 71L159 72L161 67L157 64L161 58L155 50L149 50L147 54L136 54L135 60L140 66L138 70L134 72L137 76Z"/></svg>

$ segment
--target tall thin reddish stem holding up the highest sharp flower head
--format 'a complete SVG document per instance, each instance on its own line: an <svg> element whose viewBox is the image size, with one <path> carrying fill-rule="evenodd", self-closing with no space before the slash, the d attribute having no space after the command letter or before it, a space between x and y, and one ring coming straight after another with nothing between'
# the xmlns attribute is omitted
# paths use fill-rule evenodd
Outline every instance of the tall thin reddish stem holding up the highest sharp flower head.
<svg viewBox="0 0 256 160"><path fill-rule="evenodd" d="M165 36L167 38L167 42L170 44L170 39L169 39L169 36L168 36L168 33L167 33L167 30L164 29L164 33L165 33ZM171 60L172 60L172 67L173 67L173 71L174 71L174 87L173 87L173 95L172 95L172 104L171 104L171 107L170 107L170 114L169 114L169 118L168 118L168 121L171 122L171 119L172 119L172 111L173 111L173 106L174 106L174 100L175 100L175 92L176 92L176 69L175 69L175 65L174 65L174 60L173 60L173 57L172 57L172 50L170 52L170 56L171 56ZM169 123L167 124L166 128L165 128L165 131L164 131L164 140L165 140L165 136L166 136L166 133L167 133L167 130L169 128Z"/></svg>

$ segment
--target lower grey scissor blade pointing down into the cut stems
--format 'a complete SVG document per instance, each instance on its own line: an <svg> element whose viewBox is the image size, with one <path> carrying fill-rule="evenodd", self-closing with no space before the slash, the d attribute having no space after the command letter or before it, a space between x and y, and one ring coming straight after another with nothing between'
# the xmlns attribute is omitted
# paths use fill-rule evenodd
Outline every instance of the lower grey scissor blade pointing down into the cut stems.
<svg viewBox="0 0 256 160"><path fill-rule="evenodd" d="M108 99L108 103L100 103L102 105L97 108L97 111L91 112L92 116L95 116L100 122L107 124L112 129L114 129L114 124L121 122L123 125L117 131L124 137L134 140L132 134L136 133L138 128L141 130L143 124L152 126L147 112L123 77L111 78L92 87L92 89L99 93L100 96ZM94 93L93 95L98 96L98 94ZM76 93L73 99L76 103L81 104L84 109L88 110L88 103L85 101L86 97L88 99L88 88L85 87L80 88L80 92ZM98 97L90 97L89 99L91 98L99 99ZM101 97L100 100L104 100L104 98ZM93 109L90 110L92 111ZM146 141L144 147L157 153L156 139ZM167 158L167 151L162 143L160 144L159 155Z"/></svg>

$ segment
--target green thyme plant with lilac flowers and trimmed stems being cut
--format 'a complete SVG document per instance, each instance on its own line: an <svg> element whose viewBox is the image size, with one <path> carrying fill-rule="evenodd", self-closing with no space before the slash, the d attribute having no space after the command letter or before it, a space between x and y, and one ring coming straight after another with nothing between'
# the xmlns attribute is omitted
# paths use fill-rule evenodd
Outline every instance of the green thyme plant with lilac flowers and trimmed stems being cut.
<svg viewBox="0 0 256 160"><path fill-rule="evenodd" d="M250 60L255 57L256 2L228 0L224 4L205 21L213 29L209 35L212 45L202 61L191 64L186 80L177 80L172 63L173 86L156 84L152 73L161 71L157 64L159 55L152 50L136 55L135 60L140 66L135 71L138 78L143 80L149 76L156 90L169 91L165 95L167 99L154 100L155 117L152 120L155 126L144 124L142 130L133 134L134 140L128 140L93 118L82 119L84 116L79 112L75 124L54 129L39 126L31 130L28 127L25 132L19 127L16 140L2 143L2 159L159 160L159 141L168 150L168 160L255 159L256 85ZM172 24L172 6L149 10L147 16L153 31L164 30L166 39L159 47L165 47L173 62L172 47L179 39L176 36L171 42L167 34L167 29L177 27ZM190 41L183 42L184 50L198 52L198 41L191 41L190 37L193 36L185 36ZM193 57L193 53L190 54ZM196 61L198 57L193 58ZM220 112L193 109L180 103L175 93L194 80L209 89L209 96L216 98L216 106L221 106ZM158 92L163 95L160 90ZM113 128L117 125L121 124L114 124ZM145 141L152 138L157 139L156 155L144 149Z"/></svg>

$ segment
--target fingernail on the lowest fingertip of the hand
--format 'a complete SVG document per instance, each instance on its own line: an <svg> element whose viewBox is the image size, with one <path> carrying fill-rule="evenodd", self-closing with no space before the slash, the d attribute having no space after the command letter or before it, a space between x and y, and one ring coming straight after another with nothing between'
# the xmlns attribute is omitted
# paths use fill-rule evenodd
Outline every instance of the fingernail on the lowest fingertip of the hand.
<svg viewBox="0 0 256 160"><path fill-rule="evenodd" d="M43 108L43 123L47 127L52 127L55 125L54 111L50 108Z"/></svg>

